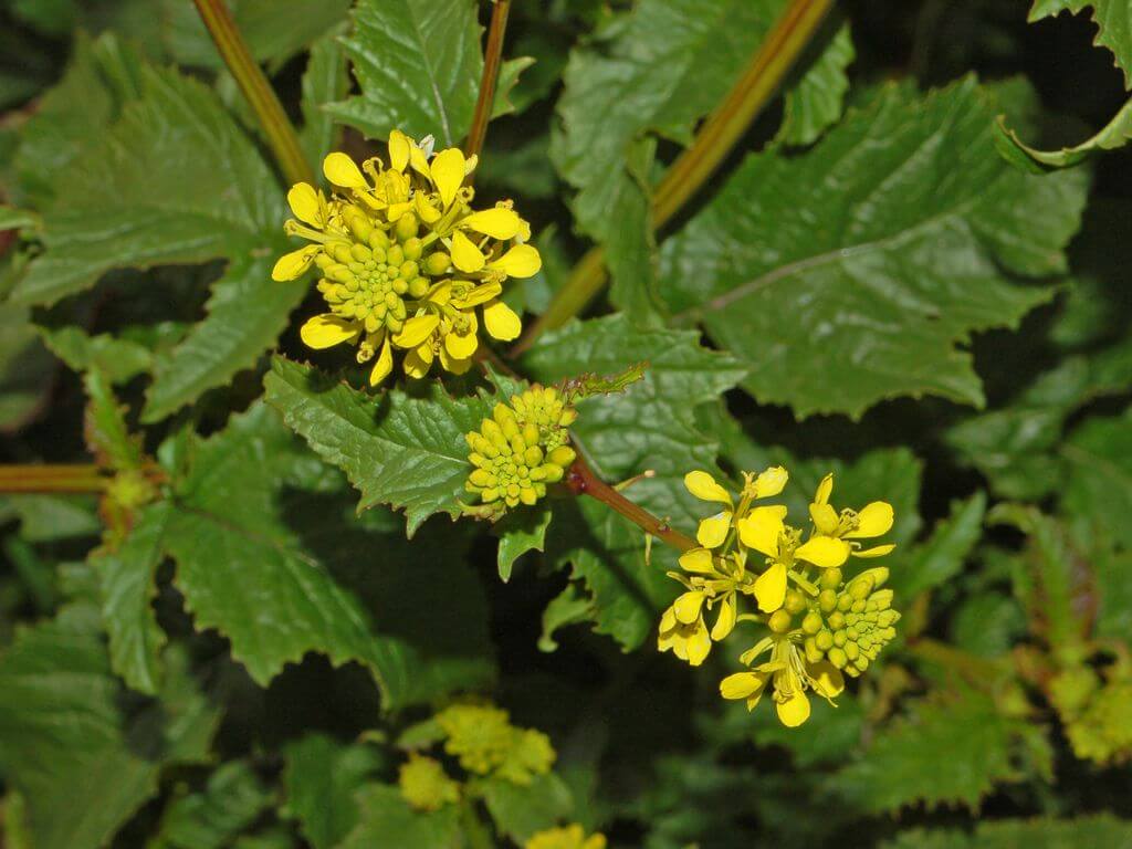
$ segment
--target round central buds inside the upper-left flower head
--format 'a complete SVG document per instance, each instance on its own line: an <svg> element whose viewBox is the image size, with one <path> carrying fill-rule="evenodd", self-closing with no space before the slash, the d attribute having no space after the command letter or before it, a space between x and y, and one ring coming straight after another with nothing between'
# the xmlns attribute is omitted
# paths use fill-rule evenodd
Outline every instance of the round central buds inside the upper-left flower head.
<svg viewBox="0 0 1132 849"><path fill-rule="evenodd" d="M342 217L354 241L332 242L315 257L323 273L318 291L332 312L361 321L368 333L381 327L398 333L409 314L405 300L423 298L432 285L429 276L444 274L452 261L444 251L426 255L413 213L388 231L357 206L346 206Z"/></svg>

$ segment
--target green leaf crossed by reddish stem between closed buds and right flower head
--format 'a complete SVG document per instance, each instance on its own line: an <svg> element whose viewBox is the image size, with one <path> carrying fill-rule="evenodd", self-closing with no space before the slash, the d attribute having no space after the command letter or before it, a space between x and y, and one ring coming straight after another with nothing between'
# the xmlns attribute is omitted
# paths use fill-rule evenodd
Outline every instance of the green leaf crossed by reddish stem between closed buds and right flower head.
<svg viewBox="0 0 1132 849"><path fill-rule="evenodd" d="M694 469L715 470L718 449L696 427L695 408L717 401L743 376L730 355L701 348L696 333L637 328L618 314L548 334L522 366L551 383L588 371L615 374L641 360L649 362L644 380L621 394L580 402L571 431L606 481L655 472L633 483L629 497L694 533L703 503L685 490L684 475ZM643 533L592 498L556 504L547 540L548 557L571 563L574 576L593 595L597 631L626 650L644 641L678 589L664 575L675 564L666 548L654 548L652 564L646 564Z"/></svg>

